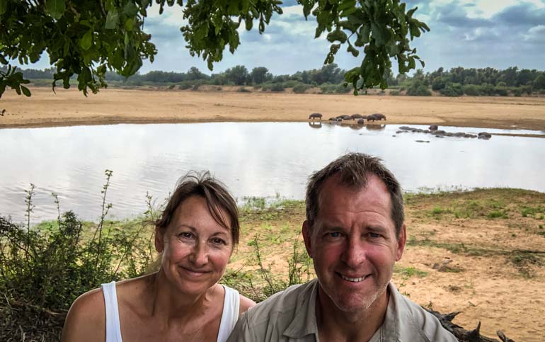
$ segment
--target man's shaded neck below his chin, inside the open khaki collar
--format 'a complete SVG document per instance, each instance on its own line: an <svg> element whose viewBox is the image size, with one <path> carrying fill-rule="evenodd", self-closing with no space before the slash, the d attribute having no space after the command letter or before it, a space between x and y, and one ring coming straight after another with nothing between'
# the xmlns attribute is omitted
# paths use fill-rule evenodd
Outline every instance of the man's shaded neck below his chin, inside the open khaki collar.
<svg viewBox="0 0 545 342"><path fill-rule="evenodd" d="M319 287L316 298L316 323L320 341L369 341L380 328L386 316L389 290L375 300L367 309L358 312L343 312Z"/></svg>

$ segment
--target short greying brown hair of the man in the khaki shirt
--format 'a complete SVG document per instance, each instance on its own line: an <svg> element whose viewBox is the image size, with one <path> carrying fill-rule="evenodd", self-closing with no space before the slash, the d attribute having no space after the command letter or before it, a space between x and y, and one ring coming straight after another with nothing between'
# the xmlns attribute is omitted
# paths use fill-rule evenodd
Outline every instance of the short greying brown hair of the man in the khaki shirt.
<svg viewBox="0 0 545 342"><path fill-rule="evenodd" d="M321 189L328 178L338 175L341 185L360 190L367 186L369 174L378 176L388 188L391 200L391 220L394 221L396 236L399 237L405 220L401 186L394 174L382 164L381 159L363 153L340 156L309 178L306 186L306 221L309 227L314 226L318 217Z"/></svg>

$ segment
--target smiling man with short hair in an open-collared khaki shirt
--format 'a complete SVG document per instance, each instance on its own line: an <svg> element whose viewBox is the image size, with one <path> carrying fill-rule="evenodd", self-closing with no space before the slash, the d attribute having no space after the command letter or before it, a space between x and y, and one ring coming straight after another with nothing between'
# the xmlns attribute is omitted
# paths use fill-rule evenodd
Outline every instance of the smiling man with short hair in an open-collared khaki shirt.
<svg viewBox="0 0 545 342"><path fill-rule="evenodd" d="M317 279L249 309L228 341L457 342L390 283L403 220L401 187L379 159L346 154L314 173L302 230Z"/></svg>

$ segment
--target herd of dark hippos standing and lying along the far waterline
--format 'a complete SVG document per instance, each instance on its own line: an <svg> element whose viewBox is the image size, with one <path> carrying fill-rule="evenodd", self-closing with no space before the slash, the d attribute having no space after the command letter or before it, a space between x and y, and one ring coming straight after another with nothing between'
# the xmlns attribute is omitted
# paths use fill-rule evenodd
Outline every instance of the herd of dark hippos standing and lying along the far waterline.
<svg viewBox="0 0 545 342"><path fill-rule="evenodd" d="M321 118L323 115L321 113L312 113L309 115L309 120L319 120L321 122ZM329 118L329 122L346 122L348 120L351 120L352 122L357 122L357 125L363 125L365 123L365 120L367 122L369 121L380 121L380 120L386 120L386 115L381 113L374 113L371 115L360 115L360 114L352 114L352 115L339 115L335 116L333 118ZM357 121L356 121L357 120ZM310 125L310 124L309 124ZM437 125L430 125L428 130L423 130L421 128L414 128L414 127L408 127L408 126L401 126L399 127L399 130L396 132L396 134L400 133L426 133L426 134L432 134L435 135L435 137L464 137L464 138L477 138L477 139L490 139L492 135L488 132L480 132L477 135L465 133L465 132L445 132L444 130L440 130L439 126Z"/></svg>

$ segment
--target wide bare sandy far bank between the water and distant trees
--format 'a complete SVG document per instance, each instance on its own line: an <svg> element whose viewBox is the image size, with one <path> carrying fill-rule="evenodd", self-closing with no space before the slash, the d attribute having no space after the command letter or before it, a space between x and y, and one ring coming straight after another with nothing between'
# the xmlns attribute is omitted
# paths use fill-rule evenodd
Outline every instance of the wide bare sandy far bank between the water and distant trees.
<svg viewBox="0 0 545 342"><path fill-rule="evenodd" d="M203 86L203 91L103 89L88 97L77 89L57 93L30 88L32 96L6 91L1 127L103 125L115 123L198 121L306 121L342 114L383 113L386 123L545 130L544 97L353 96L265 93L247 87Z"/></svg>

